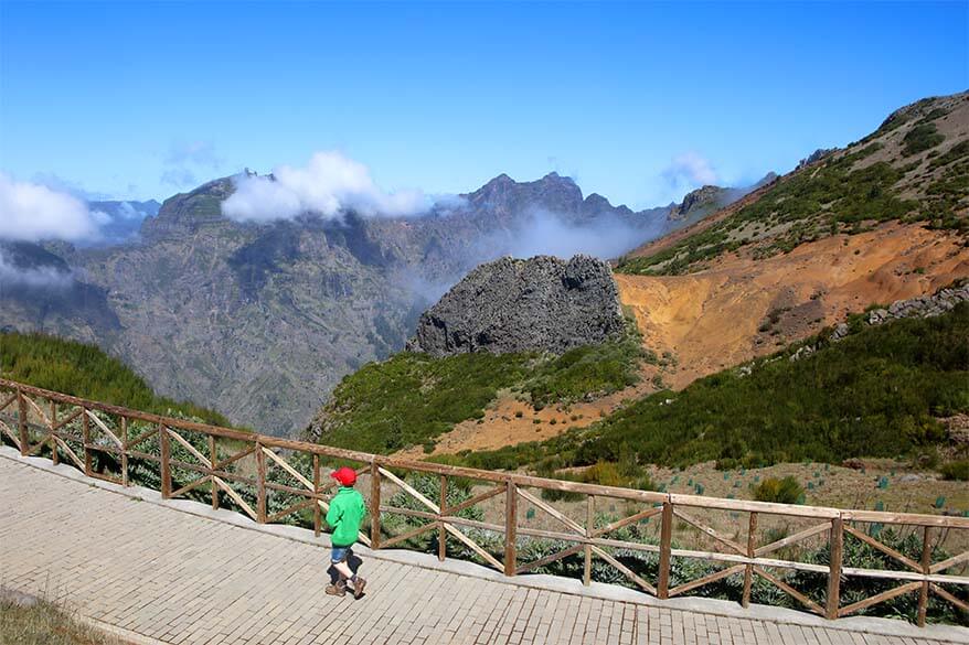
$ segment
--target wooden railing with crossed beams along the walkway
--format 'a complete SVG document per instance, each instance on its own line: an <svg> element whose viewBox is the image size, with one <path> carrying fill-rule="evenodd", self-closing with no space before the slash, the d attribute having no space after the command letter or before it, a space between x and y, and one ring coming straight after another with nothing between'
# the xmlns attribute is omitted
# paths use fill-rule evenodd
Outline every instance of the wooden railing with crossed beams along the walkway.
<svg viewBox="0 0 969 645"><path fill-rule="evenodd" d="M592 581L593 561L599 560L615 568L638 588L661 599L682 595L727 577L743 574L741 602L744 606L750 602L754 580L759 578L796 599L808 611L828 619L851 615L908 593L918 594L918 625L925 624L931 595L951 603L959 611L969 612L965 593L969 590L969 577L946 573L956 567L965 573L969 563L965 540L957 540L960 545L958 555L933 561L934 540L938 544L950 531L969 529L969 518L966 517L846 510L658 493L408 461L162 417L6 379L0 379L0 434L19 448L22 455L49 452L54 463L66 460L87 476L124 486L131 484L131 464L153 464L160 479L158 487L162 497L180 497L190 493L196 498L205 495L211 498L213 508L226 504L257 523L291 519L295 514L308 518L311 514L308 522L311 522L316 535L321 531L322 513L327 510L336 486L330 477L321 474L322 462L356 464L356 472L364 483L361 487L364 493L369 490L366 497L371 520L369 530L361 531L361 541L373 549L383 549L436 533L437 555L441 560L447 557L450 538L505 576L541 569L564 558L581 557L585 584ZM110 465L105 465L107 462ZM244 462L249 464L249 472L241 466ZM405 481L401 473L436 477L438 502ZM470 480L477 485L470 488L472 494L467 498L448 504L448 486L456 479ZM175 484L178 487L174 487ZM413 501L412 506L417 508L384 503L387 492L393 490L397 490L397 495L403 494ZM556 508L553 503L529 490L585 496L585 517L569 517L568 512ZM275 499L275 496L286 501L286 505L270 512L268 501L270 497ZM502 501L503 508L500 507ZM625 513L619 519L597 525L596 504L604 501L625 506ZM499 508L492 508L492 515L500 513L503 522L489 523L459 515L484 503L497 505ZM534 517L541 510L545 519L557 528L530 526L519 513L520 503L529 506L529 517ZM582 509L582 505L573 504L571 508L575 514L576 508ZM713 528L709 522L695 516L704 510L728 513L736 535ZM746 522L741 519L742 514L746 516ZM392 515L424 520L424 524L397 535L385 535L381 526L382 516ZM653 542L609 537L609 534L622 528L642 526L653 517L659 518L658 539ZM758 545L758 524L778 518L798 520L807 526ZM652 526L656 525L653 523ZM913 527L919 533L920 558L916 561L883 544L876 538L879 533L865 531L865 526ZM737 535L743 528L746 528L746 536L741 539ZM469 535L468 529L500 535L503 552L489 551L487 545L482 546L480 540ZM718 548L678 548L673 541L674 530L688 537L693 535L699 542ZM522 562L519 547L529 539L546 539L553 540L551 544L571 546ZM859 540L904 568L845 566L843 553L846 539ZM822 546L823 542L828 545L827 563L770 557L781 551L790 552L796 545L819 540ZM653 553L658 558L654 579L646 580L624 565L616 555L617 549ZM672 562L679 558L725 566L696 579L681 580L674 585L671 579ZM809 598L780 576L771 573L771 570L806 571L827 577L823 601ZM841 584L848 578L888 580L898 584L843 604Z"/></svg>

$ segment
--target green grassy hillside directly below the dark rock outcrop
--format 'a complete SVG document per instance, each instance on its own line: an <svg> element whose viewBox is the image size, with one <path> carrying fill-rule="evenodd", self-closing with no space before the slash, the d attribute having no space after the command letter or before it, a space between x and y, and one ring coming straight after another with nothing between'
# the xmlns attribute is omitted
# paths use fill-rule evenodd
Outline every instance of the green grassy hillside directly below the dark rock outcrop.
<svg viewBox="0 0 969 645"><path fill-rule="evenodd" d="M456 423L482 418L502 390L536 408L605 395L633 384L642 357L631 330L557 357L402 352L344 377L308 433L328 445L376 453L430 447Z"/></svg>

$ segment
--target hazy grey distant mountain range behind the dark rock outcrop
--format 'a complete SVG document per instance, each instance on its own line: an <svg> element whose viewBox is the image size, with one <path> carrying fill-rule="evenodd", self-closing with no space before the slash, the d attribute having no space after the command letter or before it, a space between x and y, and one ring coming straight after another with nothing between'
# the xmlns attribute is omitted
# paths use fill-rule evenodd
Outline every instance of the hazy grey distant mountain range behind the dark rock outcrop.
<svg viewBox="0 0 969 645"><path fill-rule="evenodd" d="M343 375L403 348L424 309L478 264L617 257L749 190L704 186L633 212L556 173L502 174L419 216L241 224L222 214L234 186L214 180L160 208L92 203L110 216L113 246L0 244L0 327L95 342L164 396L287 434Z"/></svg>

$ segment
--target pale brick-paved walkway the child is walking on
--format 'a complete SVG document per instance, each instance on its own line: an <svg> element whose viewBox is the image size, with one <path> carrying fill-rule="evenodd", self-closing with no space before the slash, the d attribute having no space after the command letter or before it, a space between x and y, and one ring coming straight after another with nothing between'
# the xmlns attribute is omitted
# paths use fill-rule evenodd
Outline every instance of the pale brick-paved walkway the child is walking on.
<svg viewBox="0 0 969 645"><path fill-rule="evenodd" d="M375 558L364 565L365 598L331 598L322 592L328 553L318 545L136 499L9 454L0 454L0 585L67 602L131 637L391 645L912 645L947 642L948 632L951 642L963 637L649 606Z"/></svg>

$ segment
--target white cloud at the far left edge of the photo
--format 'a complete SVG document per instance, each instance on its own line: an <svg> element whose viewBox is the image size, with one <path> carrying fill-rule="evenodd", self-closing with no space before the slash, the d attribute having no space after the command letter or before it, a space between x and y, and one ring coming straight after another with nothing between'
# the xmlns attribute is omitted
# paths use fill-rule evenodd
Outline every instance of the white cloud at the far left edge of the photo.
<svg viewBox="0 0 969 645"><path fill-rule="evenodd" d="M0 172L0 239L94 239L109 219L74 195Z"/></svg>

